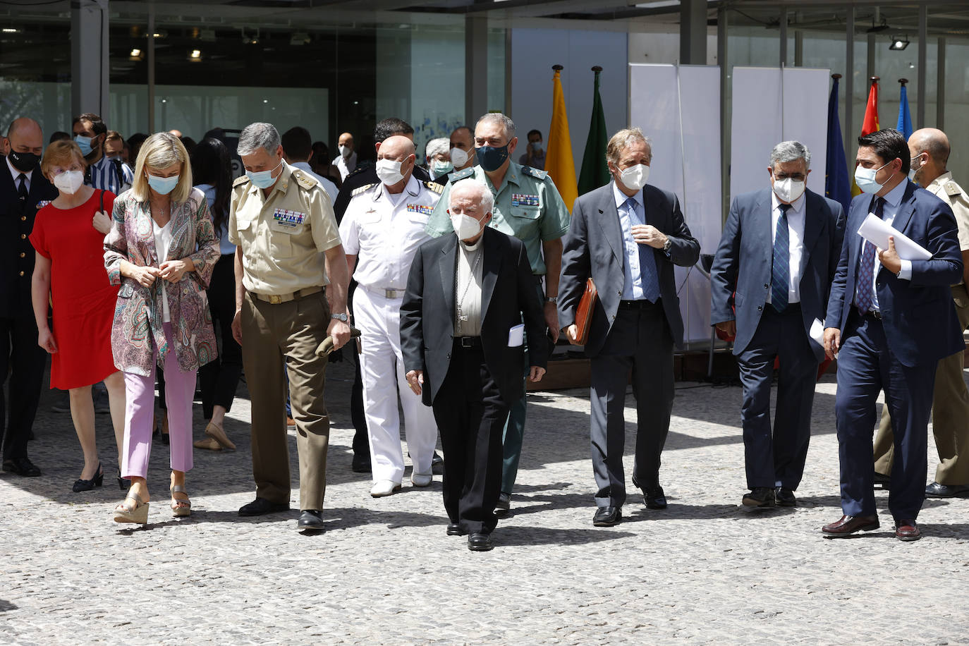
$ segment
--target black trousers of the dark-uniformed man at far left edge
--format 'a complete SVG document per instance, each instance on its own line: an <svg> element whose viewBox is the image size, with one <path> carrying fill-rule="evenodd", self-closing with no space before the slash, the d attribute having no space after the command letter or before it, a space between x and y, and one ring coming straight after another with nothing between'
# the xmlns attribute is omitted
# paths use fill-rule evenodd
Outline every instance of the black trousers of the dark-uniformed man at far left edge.
<svg viewBox="0 0 969 646"><path fill-rule="evenodd" d="M5 460L27 457L27 439L41 400L46 365L47 352L37 345L33 317L0 318L0 431L4 431ZM9 409L3 387L8 377Z"/></svg>

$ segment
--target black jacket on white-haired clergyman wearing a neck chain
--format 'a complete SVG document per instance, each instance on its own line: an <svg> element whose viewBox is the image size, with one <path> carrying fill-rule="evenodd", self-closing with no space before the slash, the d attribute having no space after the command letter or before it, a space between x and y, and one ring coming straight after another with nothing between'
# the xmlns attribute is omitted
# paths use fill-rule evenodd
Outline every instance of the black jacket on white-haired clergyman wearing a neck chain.
<svg viewBox="0 0 969 646"><path fill-rule="evenodd" d="M531 365L546 367L547 340L542 302L535 289L525 245L485 227L482 257L482 350L491 379L511 406L524 395L524 347L508 345L509 330L525 323ZM423 371L422 401L431 406L451 365L454 339L454 272L457 235L424 242L411 262L400 305L400 351L404 372Z"/></svg>

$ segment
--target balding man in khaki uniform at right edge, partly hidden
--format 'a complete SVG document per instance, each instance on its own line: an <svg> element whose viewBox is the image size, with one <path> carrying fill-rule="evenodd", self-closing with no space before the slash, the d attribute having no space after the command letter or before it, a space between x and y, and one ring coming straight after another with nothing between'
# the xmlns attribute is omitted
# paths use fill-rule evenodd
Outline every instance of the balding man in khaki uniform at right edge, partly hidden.
<svg viewBox="0 0 969 646"><path fill-rule="evenodd" d="M955 314L964 330L969 325L969 196L946 170L949 161L949 138L941 130L922 128L908 140L912 154L910 177L926 191L953 209L958 226L959 249L962 251L962 282L953 285ZM925 495L951 498L969 493L969 390L962 376L963 353L939 361L935 371L932 400L932 434L939 450L935 481L925 487ZM888 407L875 437L875 478L887 484L891 478L894 438Z"/></svg>

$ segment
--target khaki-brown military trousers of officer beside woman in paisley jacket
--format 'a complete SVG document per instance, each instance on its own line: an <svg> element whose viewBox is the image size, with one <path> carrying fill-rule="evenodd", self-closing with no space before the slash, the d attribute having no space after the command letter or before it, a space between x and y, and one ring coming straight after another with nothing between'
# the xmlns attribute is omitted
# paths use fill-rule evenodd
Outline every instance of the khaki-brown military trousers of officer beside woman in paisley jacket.
<svg viewBox="0 0 969 646"><path fill-rule="evenodd" d="M242 365L252 402L252 475L256 496L290 503L285 361L297 425L299 508L322 509L327 489L329 416L323 396L327 357L316 349L327 336L326 291L285 303L245 294Z"/></svg>

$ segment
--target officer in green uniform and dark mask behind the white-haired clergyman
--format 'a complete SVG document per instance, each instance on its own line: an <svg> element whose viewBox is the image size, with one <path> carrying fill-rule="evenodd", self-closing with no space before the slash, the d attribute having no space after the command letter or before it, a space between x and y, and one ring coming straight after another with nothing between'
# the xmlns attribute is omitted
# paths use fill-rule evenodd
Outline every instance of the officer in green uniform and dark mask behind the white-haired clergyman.
<svg viewBox="0 0 969 646"><path fill-rule="evenodd" d="M453 231L448 215L451 186L474 177L491 189L494 210L489 227L514 235L525 243L528 260L535 275L535 289L545 302L545 320L551 336L558 339L559 268L562 264L562 236L569 231L569 209L545 170L521 166L512 161L518 138L515 123L499 112L489 112L475 126L475 153L478 166L454 171L441 200L427 223L426 231L443 235ZM543 279L545 285L543 287ZM547 352L547 348L529 349ZM521 367L522 379L528 374L528 357ZM518 473L521 438L525 427L525 397L516 402L508 416L504 436L501 496L498 509L511 507L512 487ZM447 460L447 455L445 456Z"/></svg>

